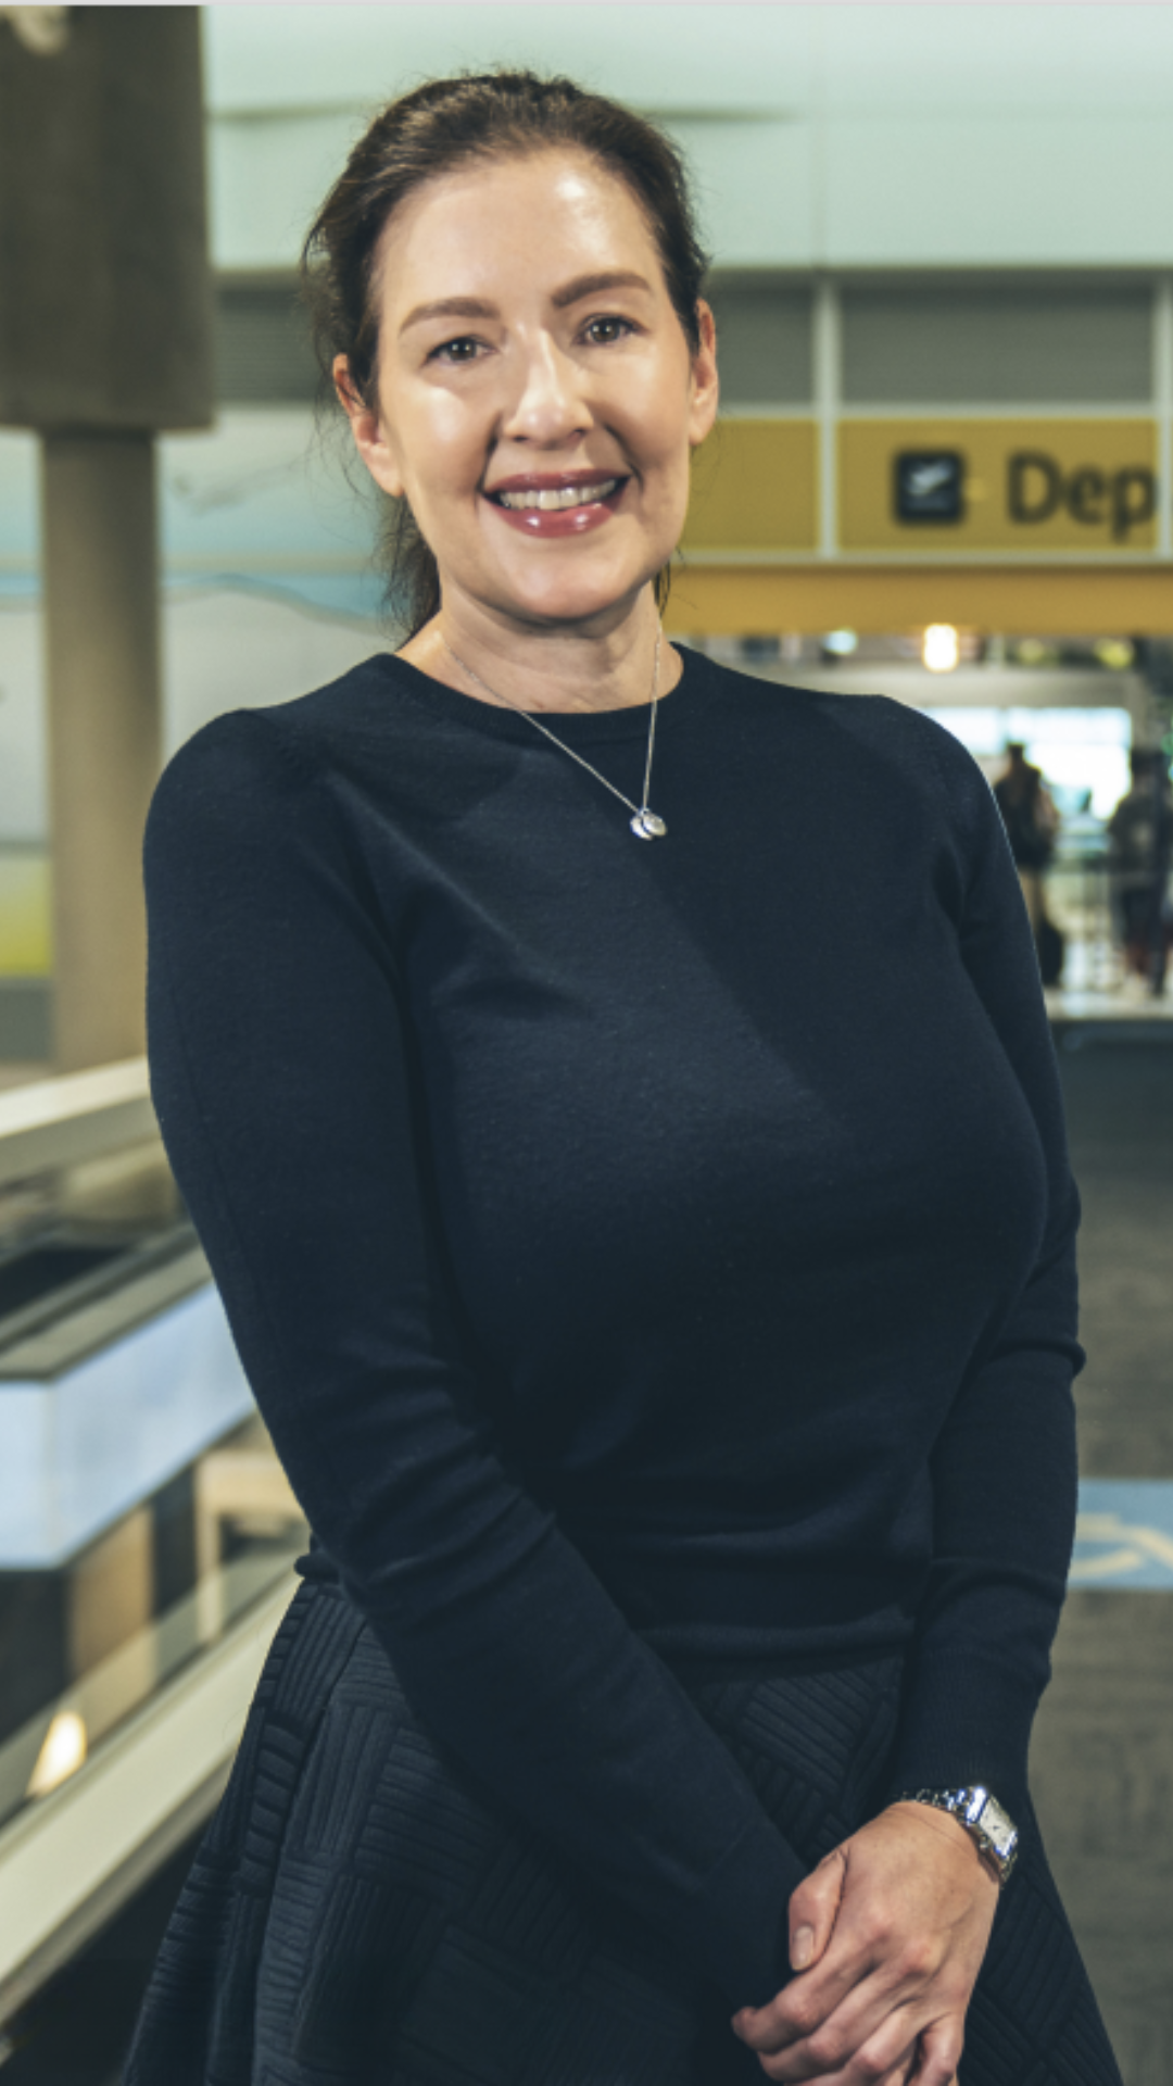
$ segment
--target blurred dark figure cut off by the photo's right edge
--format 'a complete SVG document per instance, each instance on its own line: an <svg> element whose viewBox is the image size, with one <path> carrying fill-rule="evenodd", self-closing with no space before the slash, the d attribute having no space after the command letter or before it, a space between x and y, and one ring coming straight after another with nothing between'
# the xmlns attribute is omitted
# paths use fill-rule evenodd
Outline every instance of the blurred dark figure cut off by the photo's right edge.
<svg viewBox="0 0 1173 2086"><path fill-rule="evenodd" d="M1108 870L1125 955L1125 983L1165 991L1169 939L1169 866L1173 862L1173 784L1163 753L1133 747L1131 782L1108 820Z"/></svg>

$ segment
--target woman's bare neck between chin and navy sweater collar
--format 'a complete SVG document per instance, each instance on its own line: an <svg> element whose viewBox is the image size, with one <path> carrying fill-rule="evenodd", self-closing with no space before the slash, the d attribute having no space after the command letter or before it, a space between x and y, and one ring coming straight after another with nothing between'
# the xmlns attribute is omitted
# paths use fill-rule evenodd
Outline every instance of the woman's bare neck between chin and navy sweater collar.
<svg viewBox="0 0 1173 2086"><path fill-rule="evenodd" d="M645 588L630 615L605 634L538 630L518 636L463 605L445 605L401 657L434 680L503 709L628 709L651 701L660 617ZM468 672L478 678L474 680ZM680 678L668 642L660 655L660 695Z"/></svg>

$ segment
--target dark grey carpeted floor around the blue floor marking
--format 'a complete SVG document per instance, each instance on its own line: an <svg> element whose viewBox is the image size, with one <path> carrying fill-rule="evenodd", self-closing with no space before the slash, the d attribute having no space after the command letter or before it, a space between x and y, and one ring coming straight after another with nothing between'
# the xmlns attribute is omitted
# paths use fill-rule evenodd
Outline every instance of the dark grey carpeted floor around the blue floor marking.
<svg viewBox="0 0 1173 2086"><path fill-rule="evenodd" d="M1060 1049L1083 1191L1085 1477L1173 1479L1173 1035ZM1069 1596L1039 1817L1125 2086L1173 2082L1173 1596Z"/></svg>

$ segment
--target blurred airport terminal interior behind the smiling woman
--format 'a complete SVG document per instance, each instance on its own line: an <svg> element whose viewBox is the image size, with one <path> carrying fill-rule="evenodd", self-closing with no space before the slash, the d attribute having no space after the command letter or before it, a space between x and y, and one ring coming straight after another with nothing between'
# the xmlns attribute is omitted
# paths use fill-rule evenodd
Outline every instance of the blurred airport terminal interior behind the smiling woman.
<svg viewBox="0 0 1173 2086"><path fill-rule="evenodd" d="M142 816L205 722L397 645L298 246L382 100L505 63L697 179L670 636L1035 772L1090 1360L1033 1790L1125 2086L1173 2086L1173 8L887 0L0 8L0 2086L117 2086L307 1542L150 1106ZM52 181L111 217L75 280L140 252L102 67L159 81L127 296L188 336L63 405Z"/></svg>

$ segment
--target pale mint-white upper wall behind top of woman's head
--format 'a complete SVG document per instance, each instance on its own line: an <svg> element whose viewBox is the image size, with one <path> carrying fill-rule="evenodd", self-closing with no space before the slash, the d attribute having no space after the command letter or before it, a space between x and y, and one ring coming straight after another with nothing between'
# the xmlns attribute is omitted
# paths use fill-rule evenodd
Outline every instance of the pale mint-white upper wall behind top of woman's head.
<svg viewBox="0 0 1173 2086"><path fill-rule="evenodd" d="M660 115L718 261L1173 263L1173 8L436 4L205 10L219 267L288 267L365 117L459 67Z"/></svg>

